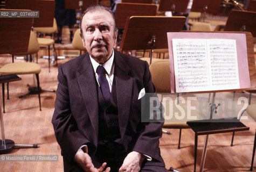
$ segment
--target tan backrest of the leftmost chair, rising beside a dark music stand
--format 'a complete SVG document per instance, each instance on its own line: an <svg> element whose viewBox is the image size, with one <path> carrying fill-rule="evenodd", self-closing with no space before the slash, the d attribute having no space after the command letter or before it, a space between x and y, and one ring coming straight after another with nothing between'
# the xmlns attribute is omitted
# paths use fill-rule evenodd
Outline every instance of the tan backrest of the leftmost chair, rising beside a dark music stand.
<svg viewBox="0 0 256 172"><path fill-rule="evenodd" d="M30 54L37 53L39 49L40 47L37 40L37 34L31 31L30 38L29 38L29 47L27 48L27 52L15 53L15 55L30 55Z"/></svg>

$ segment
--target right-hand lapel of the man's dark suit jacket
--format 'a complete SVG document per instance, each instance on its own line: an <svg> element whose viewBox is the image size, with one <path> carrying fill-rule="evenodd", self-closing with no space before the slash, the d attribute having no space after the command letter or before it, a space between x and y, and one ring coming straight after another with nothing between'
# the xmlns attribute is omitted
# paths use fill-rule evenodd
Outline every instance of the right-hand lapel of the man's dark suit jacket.
<svg viewBox="0 0 256 172"><path fill-rule="evenodd" d="M130 114L130 103L132 102L133 95L133 78L129 76L130 68L119 53L115 52L114 60L119 127L121 138L123 138Z"/></svg>

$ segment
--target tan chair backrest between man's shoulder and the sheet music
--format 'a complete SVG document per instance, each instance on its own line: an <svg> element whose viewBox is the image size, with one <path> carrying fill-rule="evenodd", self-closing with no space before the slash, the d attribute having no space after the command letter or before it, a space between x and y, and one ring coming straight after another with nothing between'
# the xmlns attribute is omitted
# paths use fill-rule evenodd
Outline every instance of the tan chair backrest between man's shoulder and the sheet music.
<svg viewBox="0 0 256 172"><path fill-rule="evenodd" d="M149 70L152 76L152 82L156 87L156 92L170 93L170 60L157 60L151 63Z"/></svg>

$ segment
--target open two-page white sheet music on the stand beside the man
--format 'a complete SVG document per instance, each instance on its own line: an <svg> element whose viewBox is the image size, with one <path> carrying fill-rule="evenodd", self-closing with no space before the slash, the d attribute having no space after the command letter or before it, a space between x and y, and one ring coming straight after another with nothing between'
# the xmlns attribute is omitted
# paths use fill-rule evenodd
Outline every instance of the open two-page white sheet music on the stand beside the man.
<svg viewBox="0 0 256 172"><path fill-rule="evenodd" d="M177 92L238 89L236 40L172 39Z"/></svg>

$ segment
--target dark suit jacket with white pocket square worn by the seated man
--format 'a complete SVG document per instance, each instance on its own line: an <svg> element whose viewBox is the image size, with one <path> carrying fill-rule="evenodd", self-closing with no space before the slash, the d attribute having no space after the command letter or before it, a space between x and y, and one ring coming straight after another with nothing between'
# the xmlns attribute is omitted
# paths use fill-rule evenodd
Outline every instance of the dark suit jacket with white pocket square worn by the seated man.
<svg viewBox="0 0 256 172"><path fill-rule="evenodd" d="M155 92L146 61L115 51L117 109L122 144L128 152L136 151L163 162L159 138L163 123L141 123L139 92ZM61 64L52 124L61 153L74 161L81 145L88 145L89 155L98 145L98 95L95 73L89 54Z"/></svg>

